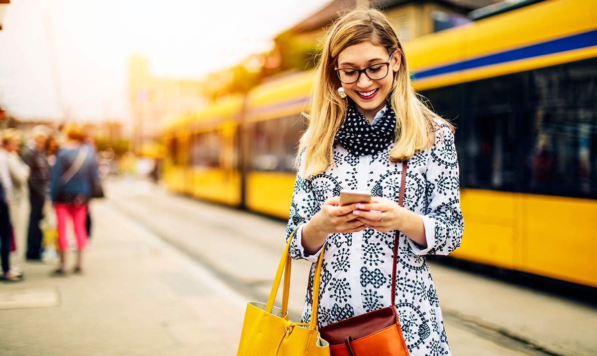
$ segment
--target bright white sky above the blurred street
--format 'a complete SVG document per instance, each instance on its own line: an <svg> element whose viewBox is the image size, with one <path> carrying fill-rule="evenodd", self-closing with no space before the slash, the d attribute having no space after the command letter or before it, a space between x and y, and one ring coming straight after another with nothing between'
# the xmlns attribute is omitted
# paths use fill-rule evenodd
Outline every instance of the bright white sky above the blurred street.
<svg viewBox="0 0 597 356"><path fill-rule="evenodd" d="M149 57L158 76L199 79L270 49L328 2L12 0L0 31L0 105L17 118L57 118L59 82L71 117L127 118L131 54Z"/></svg>

